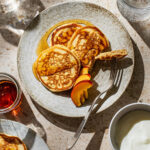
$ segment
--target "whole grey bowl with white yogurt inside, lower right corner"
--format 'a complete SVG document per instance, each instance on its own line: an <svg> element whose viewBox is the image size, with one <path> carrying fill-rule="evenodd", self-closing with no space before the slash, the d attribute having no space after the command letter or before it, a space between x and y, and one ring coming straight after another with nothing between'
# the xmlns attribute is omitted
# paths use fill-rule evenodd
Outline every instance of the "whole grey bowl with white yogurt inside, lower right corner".
<svg viewBox="0 0 150 150"><path fill-rule="evenodd" d="M109 134L114 150L150 150L150 105L134 103L119 110Z"/></svg>

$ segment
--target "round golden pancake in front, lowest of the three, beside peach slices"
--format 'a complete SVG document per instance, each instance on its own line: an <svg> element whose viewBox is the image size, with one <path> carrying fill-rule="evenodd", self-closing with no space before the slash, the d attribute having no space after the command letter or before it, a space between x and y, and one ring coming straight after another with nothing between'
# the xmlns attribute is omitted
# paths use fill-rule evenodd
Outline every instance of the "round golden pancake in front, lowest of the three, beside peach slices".
<svg viewBox="0 0 150 150"><path fill-rule="evenodd" d="M62 45L41 52L35 64L38 79L53 92L72 88L80 72L80 61Z"/></svg>

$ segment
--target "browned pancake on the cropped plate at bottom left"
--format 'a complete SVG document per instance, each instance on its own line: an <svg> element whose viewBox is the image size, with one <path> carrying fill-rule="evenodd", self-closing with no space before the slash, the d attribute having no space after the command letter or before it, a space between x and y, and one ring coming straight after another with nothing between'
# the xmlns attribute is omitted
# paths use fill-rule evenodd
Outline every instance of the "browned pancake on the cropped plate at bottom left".
<svg viewBox="0 0 150 150"><path fill-rule="evenodd" d="M27 147L18 137L0 133L0 150L27 150Z"/></svg>

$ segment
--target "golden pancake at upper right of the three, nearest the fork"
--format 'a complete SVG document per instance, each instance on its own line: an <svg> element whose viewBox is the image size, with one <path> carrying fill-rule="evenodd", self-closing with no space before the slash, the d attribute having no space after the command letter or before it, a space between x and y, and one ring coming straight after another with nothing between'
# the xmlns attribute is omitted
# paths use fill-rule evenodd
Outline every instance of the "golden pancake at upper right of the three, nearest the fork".
<svg viewBox="0 0 150 150"><path fill-rule="evenodd" d="M68 48L80 59L83 67L91 68L95 56L109 47L106 36L95 26L81 27L72 35Z"/></svg>

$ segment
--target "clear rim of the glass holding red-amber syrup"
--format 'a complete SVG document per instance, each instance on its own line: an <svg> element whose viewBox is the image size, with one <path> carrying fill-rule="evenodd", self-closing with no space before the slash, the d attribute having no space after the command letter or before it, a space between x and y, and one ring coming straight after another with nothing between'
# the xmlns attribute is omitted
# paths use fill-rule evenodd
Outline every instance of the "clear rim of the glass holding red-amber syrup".
<svg viewBox="0 0 150 150"><path fill-rule="evenodd" d="M19 102L21 100L22 91L21 91L21 88L20 88L18 81L12 75L10 75L8 73L0 72L0 77L7 77L8 81L11 81L14 83L16 90L17 90L17 96L16 96L16 99L13 102L13 104L11 104L7 108L0 109L0 114L2 114L2 113L7 113L7 112L12 111L19 104ZM6 79L6 81L7 81L7 79Z"/></svg>

